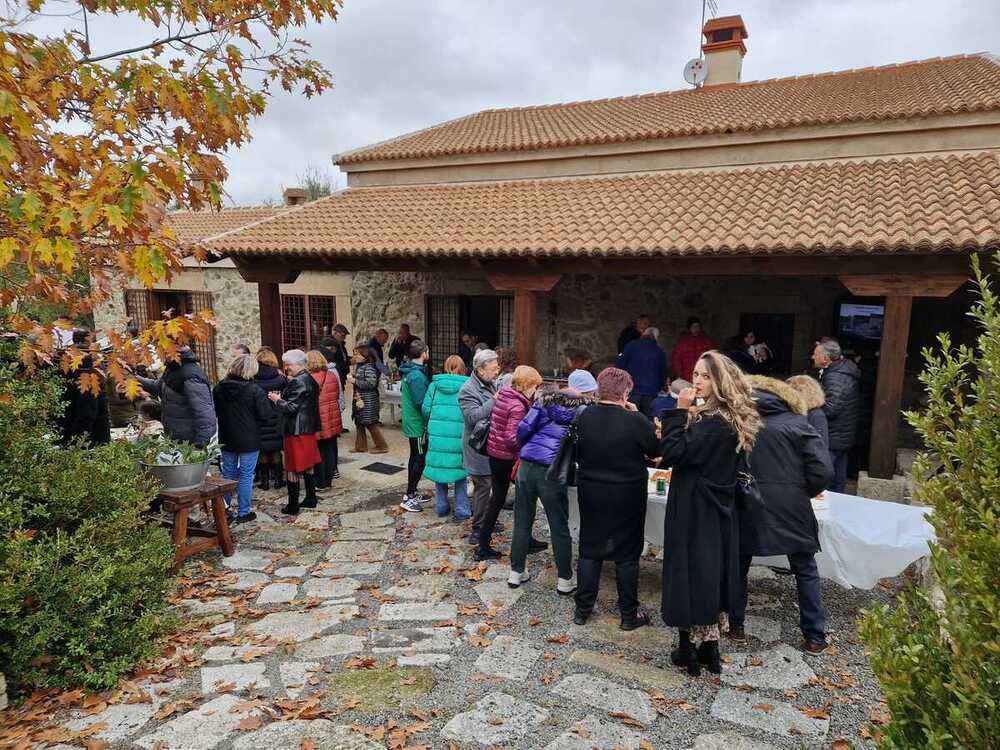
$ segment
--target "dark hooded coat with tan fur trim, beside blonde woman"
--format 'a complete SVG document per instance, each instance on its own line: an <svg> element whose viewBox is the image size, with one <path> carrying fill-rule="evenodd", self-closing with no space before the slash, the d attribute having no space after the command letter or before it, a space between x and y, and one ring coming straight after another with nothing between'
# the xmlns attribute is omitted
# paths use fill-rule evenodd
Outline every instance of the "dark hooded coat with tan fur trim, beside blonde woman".
<svg viewBox="0 0 1000 750"><path fill-rule="evenodd" d="M833 477L830 454L806 420L805 402L797 390L760 375L750 382L763 420L750 453L750 470L765 508L760 517L740 510L740 554L818 552L819 526L811 498Z"/></svg>

